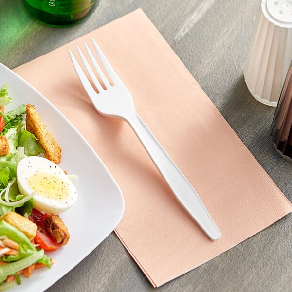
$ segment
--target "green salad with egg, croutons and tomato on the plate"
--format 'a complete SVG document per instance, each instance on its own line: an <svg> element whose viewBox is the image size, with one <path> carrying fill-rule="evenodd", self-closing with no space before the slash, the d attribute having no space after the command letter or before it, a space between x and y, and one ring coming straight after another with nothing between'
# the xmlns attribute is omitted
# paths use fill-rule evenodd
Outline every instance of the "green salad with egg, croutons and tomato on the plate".
<svg viewBox="0 0 292 292"><path fill-rule="evenodd" d="M21 284L37 268L53 264L45 251L67 244L69 232L59 213L77 198L57 165L61 148L33 105L5 113L12 102L0 89L0 291Z"/></svg>

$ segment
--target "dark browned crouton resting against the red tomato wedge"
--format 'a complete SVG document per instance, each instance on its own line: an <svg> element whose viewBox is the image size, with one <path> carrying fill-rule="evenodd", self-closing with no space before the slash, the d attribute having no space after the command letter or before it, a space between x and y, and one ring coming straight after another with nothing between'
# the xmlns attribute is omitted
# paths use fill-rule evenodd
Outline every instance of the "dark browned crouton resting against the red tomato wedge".
<svg viewBox="0 0 292 292"><path fill-rule="evenodd" d="M56 243L60 243L62 245L67 244L70 235L66 225L59 217L59 215L55 214L49 215L45 219L44 227L54 238Z"/></svg>

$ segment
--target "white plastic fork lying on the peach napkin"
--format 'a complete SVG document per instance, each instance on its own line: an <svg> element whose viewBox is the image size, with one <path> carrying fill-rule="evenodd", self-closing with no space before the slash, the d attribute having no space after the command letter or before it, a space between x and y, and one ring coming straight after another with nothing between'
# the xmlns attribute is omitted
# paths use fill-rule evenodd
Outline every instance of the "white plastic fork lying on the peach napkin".
<svg viewBox="0 0 292 292"><path fill-rule="evenodd" d="M96 92L91 86L90 81L81 69L71 50L69 50L69 53L76 73L87 94L89 95L95 109L106 117L121 118L128 122L181 205L211 240L215 241L219 239L221 237L219 229L207 212L199 195L184 177L179 168L174 164L142 119L138 116L134 108L130 92L115 73L109 61L93 38L92 42L104 69L110 76L113 83L113 85L110 84L109 80L106 78L96 62L94 56L91 54L89 47L85 44L85 48L91 59L93 67L106 89L104 89L98 81L95 75L96 73L92 71L79 47L77 47L77 49L82 62L99 92Z"/></svg>

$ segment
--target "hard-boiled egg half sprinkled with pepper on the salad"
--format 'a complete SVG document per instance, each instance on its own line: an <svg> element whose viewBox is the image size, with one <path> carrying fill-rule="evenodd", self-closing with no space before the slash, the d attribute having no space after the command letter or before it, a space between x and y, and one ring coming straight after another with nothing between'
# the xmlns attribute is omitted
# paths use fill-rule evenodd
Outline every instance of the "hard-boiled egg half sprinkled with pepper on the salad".
<svg viewBox="0 0 292 292"><path fill-rule="evenodd" d="M73 206L77 191L65 172L50 160L29 156L20 160L16 170L21 194L34 193L34 208L59 214Z"/></svg>

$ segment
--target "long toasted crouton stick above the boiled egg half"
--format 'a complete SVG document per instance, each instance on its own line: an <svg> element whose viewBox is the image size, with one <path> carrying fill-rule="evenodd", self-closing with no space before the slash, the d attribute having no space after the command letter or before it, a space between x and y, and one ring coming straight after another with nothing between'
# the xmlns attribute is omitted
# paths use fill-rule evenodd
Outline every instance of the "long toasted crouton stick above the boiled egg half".
<svg viewBox="0 0 292 292"><path fill-rule="evenodd" d="M38 143L45 151L45 157L54 163L61 162L61 147L57 144L52 134L47 130L40 115L33 105L26 106L26 129L34 134Z"/></svg>

